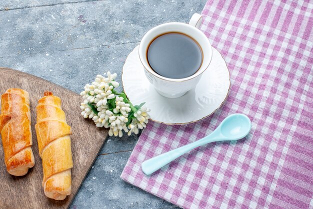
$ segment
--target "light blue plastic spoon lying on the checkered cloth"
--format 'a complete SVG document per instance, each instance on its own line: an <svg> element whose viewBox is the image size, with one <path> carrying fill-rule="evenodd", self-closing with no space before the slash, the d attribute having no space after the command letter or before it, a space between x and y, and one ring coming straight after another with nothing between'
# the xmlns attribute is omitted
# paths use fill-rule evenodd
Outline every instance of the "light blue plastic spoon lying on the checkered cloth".
<svg viewBox="0 0 313 209"><path fill-rule="evenodd" d="M251 121L244 114L231 114L209 135L187 145L162 153L141 164L142 171L149 175L191 149L214 141L231 141L243 138L251 129Z"/></svg>

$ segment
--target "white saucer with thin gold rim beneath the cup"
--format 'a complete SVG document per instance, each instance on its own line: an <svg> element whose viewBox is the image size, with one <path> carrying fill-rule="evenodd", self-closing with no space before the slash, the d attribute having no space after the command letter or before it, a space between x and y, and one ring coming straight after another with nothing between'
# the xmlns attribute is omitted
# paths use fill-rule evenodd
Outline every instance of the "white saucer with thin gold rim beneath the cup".
<svg viewBox="0 0 313 209"><path fill-rule="evenodd" d="M161 96L144 75L138 46L130 52L122 69L122 85L131 103L145 102L151 119L166 124L183 124L212 114L226 99L229 71L221 54L213 49L212 61L194 89L178 98Z"/></svg>

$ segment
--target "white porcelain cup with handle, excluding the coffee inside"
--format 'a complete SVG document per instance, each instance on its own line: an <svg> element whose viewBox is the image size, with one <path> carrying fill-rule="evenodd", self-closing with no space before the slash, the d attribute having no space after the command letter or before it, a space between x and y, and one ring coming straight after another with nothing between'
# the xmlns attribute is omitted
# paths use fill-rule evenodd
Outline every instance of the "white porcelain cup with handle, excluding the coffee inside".
<svg viewBox="0 0 313 209"><path fill-rule="evenodd" d="M201 20L202 16L198 13L194 13L189 21L189 24L181 22L168 22L160 24L150 29L141 39L139 44L139 58L144 66L145 76L159 94L169 98L176 98L184 95L188 90L195 87L202 73L207 69L212 58L212 46L204 33L198 29L201 24ZM150 43L157 36L169 32L186 34L193 38L200 46L202 52L202 64L191 76L178 79L168 78L159 75L150 67L146 55Z"/></svg>

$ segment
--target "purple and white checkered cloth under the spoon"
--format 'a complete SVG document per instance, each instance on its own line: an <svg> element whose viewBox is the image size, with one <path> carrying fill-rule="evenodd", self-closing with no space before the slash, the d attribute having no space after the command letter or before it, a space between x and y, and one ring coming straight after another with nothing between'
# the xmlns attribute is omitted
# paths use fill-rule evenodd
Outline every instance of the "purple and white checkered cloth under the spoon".
<svg viewBox="0 0 313 209"><path fill-rule="evenodd" d="M313 208L313 3L209 0L200 29L223 55L231 88L211 116L187 125L150 121L121 174L184 208ZM244 139L198 147L150 176L146 159L193 142L231 113Z"/></svg>

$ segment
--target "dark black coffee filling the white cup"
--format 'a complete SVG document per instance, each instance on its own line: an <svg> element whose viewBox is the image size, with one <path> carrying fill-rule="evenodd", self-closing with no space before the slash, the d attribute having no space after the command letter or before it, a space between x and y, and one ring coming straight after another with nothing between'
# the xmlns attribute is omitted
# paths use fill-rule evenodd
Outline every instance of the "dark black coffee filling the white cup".
<svg viewBox="0 0 313 209"><path fill-rule="evenodd" d="M168 78L193 75L201 66L201 48L191 37L170 32L156 37L149 45L147 59L150 67Z"/></svg>

